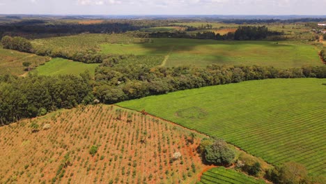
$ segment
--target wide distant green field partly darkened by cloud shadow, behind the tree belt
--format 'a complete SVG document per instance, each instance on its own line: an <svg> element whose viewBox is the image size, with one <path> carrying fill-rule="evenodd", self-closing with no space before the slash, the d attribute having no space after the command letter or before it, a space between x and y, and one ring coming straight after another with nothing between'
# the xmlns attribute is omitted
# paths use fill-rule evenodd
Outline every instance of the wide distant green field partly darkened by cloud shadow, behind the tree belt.
<svg viewBox="0 0 326 184"><path fill-rule="evenodd" d="M207 66L215 63L291 68L323 65L315 47L303 43L178 38L151 40L151 43L142 44L104 44L101 52L169 56L166 66Z"/></svg>

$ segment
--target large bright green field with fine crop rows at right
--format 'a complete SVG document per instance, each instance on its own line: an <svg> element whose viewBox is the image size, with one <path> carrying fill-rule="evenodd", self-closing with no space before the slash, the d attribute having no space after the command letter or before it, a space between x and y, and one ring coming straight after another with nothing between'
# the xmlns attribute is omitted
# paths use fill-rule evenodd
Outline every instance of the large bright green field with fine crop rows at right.
<svg viewBox="0 0 326 184"><path fill-rule="evenodd" d="M326 176L326 79L267 79L150 96L118 105L222 137L272 164Z"/></svg>

